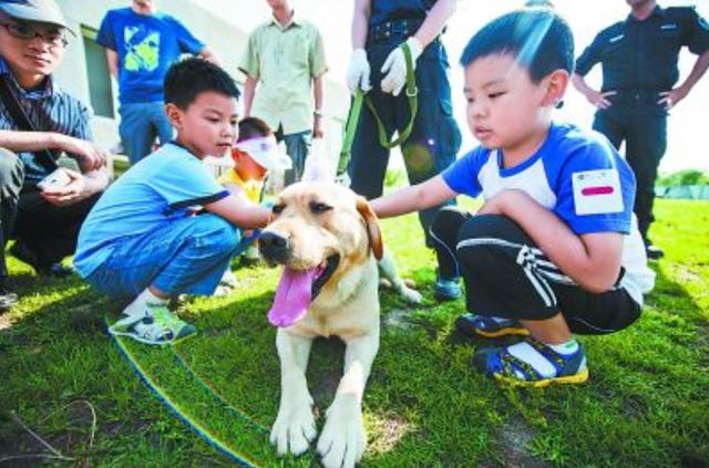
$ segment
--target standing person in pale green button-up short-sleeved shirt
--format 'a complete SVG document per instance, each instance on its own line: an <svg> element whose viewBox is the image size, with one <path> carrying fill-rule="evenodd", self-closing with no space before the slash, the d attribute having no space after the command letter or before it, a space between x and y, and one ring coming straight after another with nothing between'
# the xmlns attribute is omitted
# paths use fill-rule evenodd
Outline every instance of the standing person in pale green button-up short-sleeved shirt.
<svg viewBox="0 0 709 468"><path fill-rule="evenodd" d="M296 15L289 0L266 1L273 18L251 32L239 65L246 75L244 114L264 119L286 144L292 169L285 183L290 185L302 176L310 138L323 136L328 66L317 28Z"/></svg>

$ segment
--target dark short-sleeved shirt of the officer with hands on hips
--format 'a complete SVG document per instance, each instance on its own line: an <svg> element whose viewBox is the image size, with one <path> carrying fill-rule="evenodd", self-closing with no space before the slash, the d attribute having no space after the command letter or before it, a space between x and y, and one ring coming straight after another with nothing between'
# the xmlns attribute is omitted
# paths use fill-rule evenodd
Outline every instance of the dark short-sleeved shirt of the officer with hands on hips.
<svg viewBox="0 0 709 468"><path fill-rule="evenodd" d="M585 75L600 62L603 91L669 91L679 80L679 51L709 50L709 23L691 7L662 9L638 21L629 14L600 31L576 61Z"/></svg>

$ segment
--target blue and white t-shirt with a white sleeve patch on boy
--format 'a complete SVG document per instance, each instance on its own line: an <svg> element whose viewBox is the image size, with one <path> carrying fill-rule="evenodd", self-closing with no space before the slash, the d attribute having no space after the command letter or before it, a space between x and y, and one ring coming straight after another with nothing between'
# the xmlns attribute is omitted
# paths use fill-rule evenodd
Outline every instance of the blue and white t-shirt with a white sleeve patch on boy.
<svg viewBox="0 0 709 468"><path fill-rule="evenodd" d="M451 165L443 179L459 194L485 199L523 190L577 235L630 231L635 175L603 135L553 124L527 160L510 168L502 160L502 150L480 146Z"/></svg>

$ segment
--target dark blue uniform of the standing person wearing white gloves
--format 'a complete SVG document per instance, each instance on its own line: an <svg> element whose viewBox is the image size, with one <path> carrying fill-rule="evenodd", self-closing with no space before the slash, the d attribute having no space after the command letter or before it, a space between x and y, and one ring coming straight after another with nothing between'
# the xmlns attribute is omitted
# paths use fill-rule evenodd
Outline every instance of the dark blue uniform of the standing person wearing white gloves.
<svg viewBox="0 0 709 468"><path fill-rule="evenodd" d="M403 131L410 119L405 90L393 96L380 87L380 72L389 53L410 35L415 34L428 11L436 0L372 0L367 34L367 58L371 67L372 90L368 94L379 113L387 134ZM448 55L441 40L433 40L417 61L415 77L419 87L419 112L413 129L402 145L407 173L411 184L419 184L440 174L455 160L461 146L461 133L453 118L451 85L448 81ZM377 122L366 106L362 107L352 143L352 158L348 168L351 188L367 198L382 194L389 149L379 144ZM427 243L433 217L440 207L421 211Z"/></svg>

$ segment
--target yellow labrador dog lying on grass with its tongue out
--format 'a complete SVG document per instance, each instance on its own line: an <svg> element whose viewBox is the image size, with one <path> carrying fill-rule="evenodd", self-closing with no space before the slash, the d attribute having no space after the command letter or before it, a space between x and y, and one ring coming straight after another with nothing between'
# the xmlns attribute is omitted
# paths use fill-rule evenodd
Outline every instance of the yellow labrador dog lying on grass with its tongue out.
<svg viewBox="0 0 709 468"><path fill-rule="evenodd" d="M301 454L317 435L306 367L312 340L339 336L347 345L345 374L318 440L326 467L352 467L364 451L362 394L379 349L379 272L409 301L420 302L384 256L379 225L367 201L329 183L286 188L259 250L284 266L269 321L278 326L281 388L270 441L279 455Z"/></svg>

